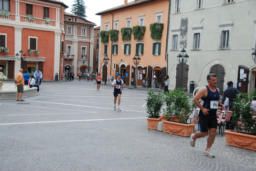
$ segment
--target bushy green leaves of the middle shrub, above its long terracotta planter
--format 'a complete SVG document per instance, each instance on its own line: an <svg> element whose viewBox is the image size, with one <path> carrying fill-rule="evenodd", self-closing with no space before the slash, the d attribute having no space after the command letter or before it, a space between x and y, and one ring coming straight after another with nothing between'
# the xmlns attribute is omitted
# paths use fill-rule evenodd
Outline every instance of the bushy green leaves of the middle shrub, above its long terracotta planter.
<svg viewBox="0 0 256 171"><path fill-rule="evenodd" d="M166 93L164 101L166 103L165 111L166 120L174 121L177 118L179 123L187 123L189 114L195 108L194 102L191 100L191 96L187 96L184 91L185 88L174 89L170 93Z"/></svg>

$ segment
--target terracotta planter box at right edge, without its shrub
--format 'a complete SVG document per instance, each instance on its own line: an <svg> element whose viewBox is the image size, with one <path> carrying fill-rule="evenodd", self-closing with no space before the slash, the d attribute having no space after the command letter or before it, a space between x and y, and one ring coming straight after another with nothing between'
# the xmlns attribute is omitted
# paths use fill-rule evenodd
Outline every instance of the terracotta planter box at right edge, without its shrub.
<svg viewBox="0 0 256 171"><path fill-rule="evenodd" d="M236 132L234 130L225 131L226 144L235 147L246 148L256 151L256 136Z"/></svg>

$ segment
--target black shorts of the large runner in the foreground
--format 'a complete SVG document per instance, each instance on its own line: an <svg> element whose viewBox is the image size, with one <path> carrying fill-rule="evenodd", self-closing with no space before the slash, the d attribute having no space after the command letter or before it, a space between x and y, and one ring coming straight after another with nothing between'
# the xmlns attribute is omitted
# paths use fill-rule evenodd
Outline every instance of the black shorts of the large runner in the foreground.
<svg viewBox="0 0 256 171"><path fill-rule="evenodd" d="M199 128L201 132L208 132L209 128L217 129L218 121L217 118L209 118L204 114L199 114Z"/></svg>

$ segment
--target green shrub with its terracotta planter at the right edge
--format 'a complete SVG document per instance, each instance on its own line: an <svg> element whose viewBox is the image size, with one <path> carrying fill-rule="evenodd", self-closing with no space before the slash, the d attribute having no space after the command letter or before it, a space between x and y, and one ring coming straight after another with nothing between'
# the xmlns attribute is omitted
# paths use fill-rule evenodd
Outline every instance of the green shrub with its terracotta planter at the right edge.
<svg viewBox="0 0 256 171"><path fill-rule="evenodd" d="M256 100L256 89L250 96L247 93L242 96L243 100L236 94L233 102L232 122L236 124L236 130L225 131L226 144L256 151L256 111L251 108L253 99Z"/></svg>

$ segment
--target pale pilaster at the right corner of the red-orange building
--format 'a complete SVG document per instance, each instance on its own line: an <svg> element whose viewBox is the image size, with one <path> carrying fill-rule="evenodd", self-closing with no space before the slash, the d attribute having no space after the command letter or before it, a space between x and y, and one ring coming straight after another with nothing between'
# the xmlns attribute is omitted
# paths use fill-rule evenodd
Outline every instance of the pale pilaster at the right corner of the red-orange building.
<svg viewBox="0 0 256 171"><path fill-rule="evenodd" d="M61 53L61 32L54 32L55 34L55 46L54 46L54 69L53 69L53 80L55 79L55 73L60 72L60 53ZM59 75L61 75L59 73Z"/></svg>

